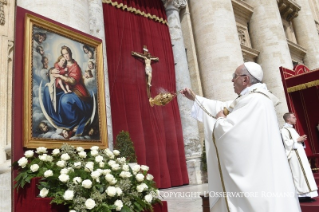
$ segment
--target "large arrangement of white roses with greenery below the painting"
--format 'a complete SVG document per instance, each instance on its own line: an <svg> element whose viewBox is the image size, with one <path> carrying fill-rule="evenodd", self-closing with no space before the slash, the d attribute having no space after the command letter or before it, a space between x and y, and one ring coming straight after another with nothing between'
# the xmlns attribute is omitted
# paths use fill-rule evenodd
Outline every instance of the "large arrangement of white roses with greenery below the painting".
<svg viewBox="0 0 319 212"><path fill-rule="evenodd" d="M118 150L92 146L86 152L63 144L50 155L39 147L27 150L14 165L19 167L17 189L40 177L39 196L68 205L70 212L152 211L152 204L161 202L149 167L131 168Z"/></svg>

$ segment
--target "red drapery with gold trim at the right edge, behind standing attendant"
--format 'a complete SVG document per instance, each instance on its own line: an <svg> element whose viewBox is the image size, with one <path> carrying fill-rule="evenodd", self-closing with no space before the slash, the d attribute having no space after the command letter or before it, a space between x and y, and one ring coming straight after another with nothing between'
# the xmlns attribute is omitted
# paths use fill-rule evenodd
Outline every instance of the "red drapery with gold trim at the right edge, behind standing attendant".
<svg viewBox="0 0 319 212"><path fill-rule="evenodd" d="M319 122L319 87L312 86L293 92L289 89L307 84L319 79L319 70L309 71L304 65L298 65L294 70L280 67L281 78L285 90L289 111L297 117L296 130L300 135L307 135L305 149L307 156L319 152L319 132L316 126Z"/></svg>

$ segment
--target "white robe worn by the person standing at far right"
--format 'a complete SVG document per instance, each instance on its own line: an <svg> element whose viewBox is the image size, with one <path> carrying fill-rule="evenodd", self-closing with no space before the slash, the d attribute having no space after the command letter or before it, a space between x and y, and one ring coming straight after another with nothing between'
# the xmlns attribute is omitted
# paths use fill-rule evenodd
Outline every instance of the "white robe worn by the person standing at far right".
<svg viewBox="0 0 319 212"><path fill-rule="evenodd" d="M318 196L318 188L306 152L303 145L297 142L300 135L290 124L284 125L281 129L281 135L299 197Z"/></svg>

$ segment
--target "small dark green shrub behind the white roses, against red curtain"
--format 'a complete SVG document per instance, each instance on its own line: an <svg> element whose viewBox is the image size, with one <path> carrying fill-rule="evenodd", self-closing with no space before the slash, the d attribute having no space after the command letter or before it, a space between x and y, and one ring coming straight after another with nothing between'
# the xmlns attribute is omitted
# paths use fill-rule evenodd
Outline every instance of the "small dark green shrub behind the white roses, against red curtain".
<svg viewBox="0 0 319 212"><path fill-rule="evenodd" d="M121 131L116 136L114 149L119 150L121 152L121 156L125 157L128 163L137 162L134 144L130 138L129 132Z"/></svg>

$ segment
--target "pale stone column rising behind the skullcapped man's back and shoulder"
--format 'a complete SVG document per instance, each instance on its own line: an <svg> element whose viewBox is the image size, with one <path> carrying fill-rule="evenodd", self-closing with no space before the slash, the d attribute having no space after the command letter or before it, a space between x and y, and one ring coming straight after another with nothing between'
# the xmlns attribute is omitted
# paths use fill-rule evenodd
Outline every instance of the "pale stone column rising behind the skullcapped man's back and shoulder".
<svg viewBox="0 0 319 212"><path fill-rule="evenodd" d="M282 26L277 0L246 0L254 8L249 22L250 38L254 49L260 51L257 62L264 71L263 81L281 104L276 107L279 123L288 111L279 67L293 68L285 31Z"/></svg>

